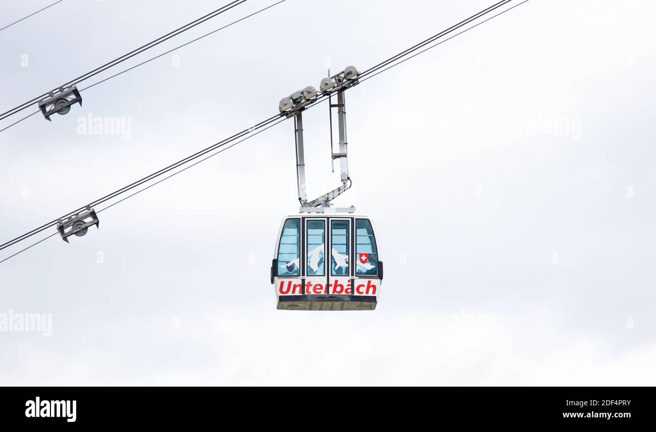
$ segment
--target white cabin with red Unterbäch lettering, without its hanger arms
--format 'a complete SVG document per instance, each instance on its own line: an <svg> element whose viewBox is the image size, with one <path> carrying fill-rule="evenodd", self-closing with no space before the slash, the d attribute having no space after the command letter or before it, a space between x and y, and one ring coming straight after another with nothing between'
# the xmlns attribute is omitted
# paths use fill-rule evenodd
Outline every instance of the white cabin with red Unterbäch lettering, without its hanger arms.
<svg viewBox="0 0 656 432"><path fill-rule="evenodd" d="M297 214L283 220L271 267L277 309L373 310L381 281L369 216Z"/></svg>

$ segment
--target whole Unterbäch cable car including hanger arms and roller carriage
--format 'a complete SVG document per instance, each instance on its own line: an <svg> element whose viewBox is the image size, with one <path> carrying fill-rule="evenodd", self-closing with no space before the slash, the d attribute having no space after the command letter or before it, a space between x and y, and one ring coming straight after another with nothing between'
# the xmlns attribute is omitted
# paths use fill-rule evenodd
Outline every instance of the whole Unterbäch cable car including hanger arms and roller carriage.
<svg viewBox="0 0 656 432"><path fill-rule="evenodd" d="M382 282L382 261L373 223L369 216L349 208L331 208L331 200L351 186L348 175L346 110L344 90L357 84L358 71L349 66L337 75L321 80L323 95L337 92L341 186L314 201L307 199L303 152L304 104L318 97L306 87L280 101L279 109L293 115L297 151L298 214L283 219L278 231L271 283L276 290L277 309L291 310L373 310ZM332 119L332 115L331 115ZM332 124L331 124L332 127Z"/></svg>

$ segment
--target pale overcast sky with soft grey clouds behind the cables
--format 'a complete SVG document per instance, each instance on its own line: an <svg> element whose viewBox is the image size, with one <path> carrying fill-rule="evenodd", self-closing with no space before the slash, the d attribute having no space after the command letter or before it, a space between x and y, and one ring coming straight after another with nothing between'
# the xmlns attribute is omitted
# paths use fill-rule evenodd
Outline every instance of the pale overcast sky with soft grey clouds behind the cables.
<svg viewBox="0 0 656 432"><path fill-rule="evenodd" d="M0 27L50 3L3 1ZM65 0L0 31L0 111L222 3ZM0 132L0 243L491 3L287 0L33 115ZM655 13L530 0L348 90L338 205L377 227L375 311L276 310L276 235L298 211L286 121L0 264L0 317L52 317L50 337L0 332L0 384L656 385ZM338 184L327 115L304 115L313 197ZM89 116L126 129L87 134Z"/></svg>

